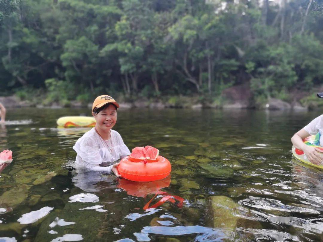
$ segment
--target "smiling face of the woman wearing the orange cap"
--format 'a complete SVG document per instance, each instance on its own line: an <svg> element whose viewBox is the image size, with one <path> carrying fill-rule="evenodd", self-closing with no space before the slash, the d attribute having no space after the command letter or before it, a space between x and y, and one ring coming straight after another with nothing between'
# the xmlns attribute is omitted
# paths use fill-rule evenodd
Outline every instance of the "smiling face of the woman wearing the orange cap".
<svg viewBox="0 0 323 242"><path fill-rule="evenodd" d="M109 132L117 122L117 110L114 105L108 105L98 114L92 113L92 115L97 121L95 127L102 130L103 132Z"/></svg>

